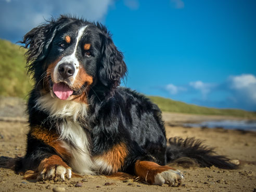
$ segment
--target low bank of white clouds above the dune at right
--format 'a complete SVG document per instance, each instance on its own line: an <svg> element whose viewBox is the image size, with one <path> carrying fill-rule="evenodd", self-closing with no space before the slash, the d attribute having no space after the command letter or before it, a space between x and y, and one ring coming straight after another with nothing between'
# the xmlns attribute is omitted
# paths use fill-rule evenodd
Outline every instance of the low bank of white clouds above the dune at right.
<svg viewBox="0 0 256 192"><path fill-rule="evenodd" d="M201 106L256 111L256 76L253 74L231 75L222 83L194 81L183 86L168 84L164 90L174 99L182 98Z"/></svg>

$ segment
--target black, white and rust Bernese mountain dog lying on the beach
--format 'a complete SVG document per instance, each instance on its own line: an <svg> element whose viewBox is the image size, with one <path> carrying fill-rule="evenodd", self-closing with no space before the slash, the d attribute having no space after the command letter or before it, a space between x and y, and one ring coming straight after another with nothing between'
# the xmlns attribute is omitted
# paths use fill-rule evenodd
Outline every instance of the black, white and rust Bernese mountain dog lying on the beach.
<svg viewBox="0 0 256 192"><path fill-rule="evenodd" d="M127 69L104 25L60 16L32 29L20 43L35 81L27 150L15 167L25 179L123 172L148 184L178 186L184 175L167 163L180 158L235 168L199 140L167 142L157 105L119 87Z"/></svg>

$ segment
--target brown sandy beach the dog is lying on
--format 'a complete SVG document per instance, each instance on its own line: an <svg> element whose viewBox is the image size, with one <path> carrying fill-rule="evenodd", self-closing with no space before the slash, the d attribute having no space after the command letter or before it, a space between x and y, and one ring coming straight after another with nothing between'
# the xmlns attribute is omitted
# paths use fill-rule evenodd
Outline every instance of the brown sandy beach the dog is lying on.
<svg viewBox="0 0 256 192"><path fill-rule="evenodd" d="M16 155L25 153L25 133L28 131L24 117L0 118L0 191L53 191L63 187L65 191L256 191L256 132L224 129L201 129L182 127L182 122L223 119L217 116L195 116L163 113L167 137L180 136L203 139L205 144L215 147L220 155L239 159L237 170L178 167L185 180L180 187L153 186L132 179L119 181L105 176L83 176L65 182L26 181L8 166ZM224 117L226 118L226 117ZM228 118L230 119L230 118ZM83 181L82 181L83 180ZM77 184L79 183L79 184ZM106 185L105 185L106 184Z"/></svg>

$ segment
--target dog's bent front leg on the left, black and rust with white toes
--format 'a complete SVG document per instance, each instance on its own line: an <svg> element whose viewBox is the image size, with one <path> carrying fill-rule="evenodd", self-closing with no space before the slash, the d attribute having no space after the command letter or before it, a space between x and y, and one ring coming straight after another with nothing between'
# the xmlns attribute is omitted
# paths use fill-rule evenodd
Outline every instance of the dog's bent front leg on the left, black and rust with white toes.
<svg viewBox="0 0 256 192"><path fill-rule="evenodd" d="M64 161L70 158L70 154L62 147L56 132L44 127L31 127L27 142L27 153L21 159L26 171L24 179L71 178L71 168Z"/></svg>

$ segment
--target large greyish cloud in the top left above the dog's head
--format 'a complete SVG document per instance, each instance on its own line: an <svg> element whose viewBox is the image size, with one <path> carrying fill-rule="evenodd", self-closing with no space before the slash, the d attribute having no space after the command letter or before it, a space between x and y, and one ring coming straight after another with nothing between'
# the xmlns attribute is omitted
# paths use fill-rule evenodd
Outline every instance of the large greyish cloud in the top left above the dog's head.
<svg viewBox="0 0 256 192"><path fill-rule="evenodd" d="M8 3L7 3L8 2ZM92 21L104 21L113 0L26 0L0 1L0 25L5 33L23 36L52 16L71 14Z"/></svg>

